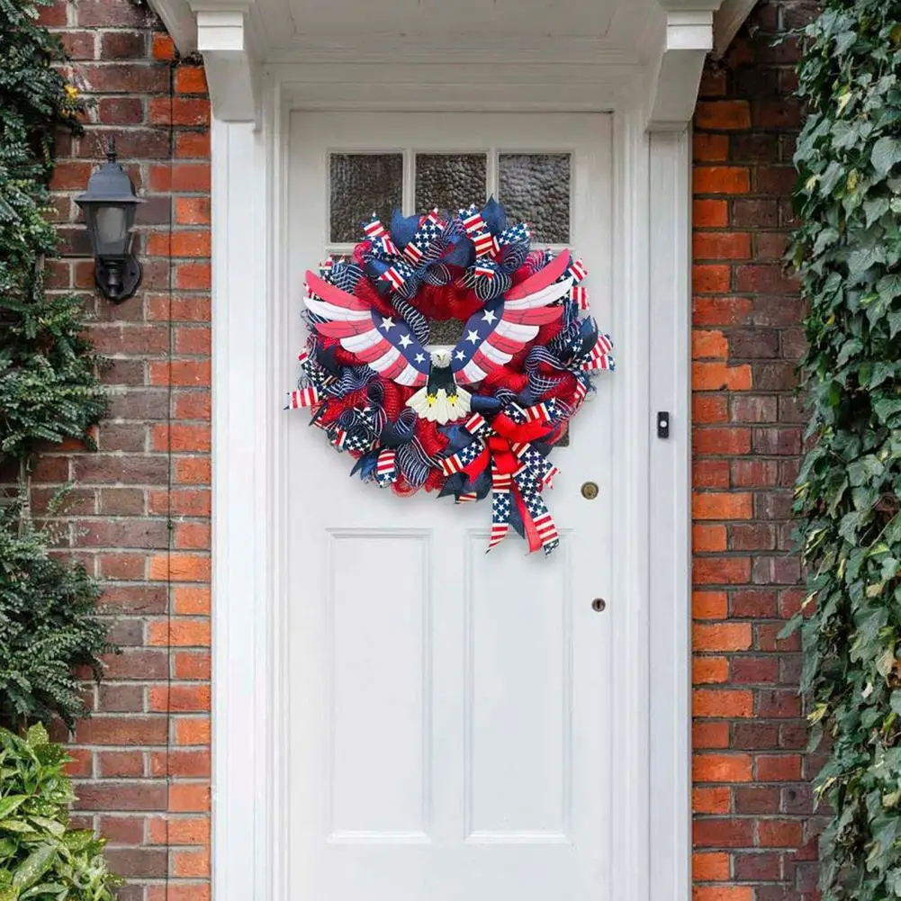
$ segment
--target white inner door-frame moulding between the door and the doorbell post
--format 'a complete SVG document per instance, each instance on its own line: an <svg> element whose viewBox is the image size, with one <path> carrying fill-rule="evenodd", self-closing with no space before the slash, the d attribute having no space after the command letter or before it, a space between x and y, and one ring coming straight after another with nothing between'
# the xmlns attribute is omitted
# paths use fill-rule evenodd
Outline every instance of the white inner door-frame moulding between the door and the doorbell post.
<svg viewBox="0 0 901 901"><path fill-rule="evenodd" d="M648 496L650 400L648 372L649 243L648 136L639 110L615 118L614 167L614 304L613 334L619 352L612 395L616 423L616 478L612 506L616 514L614 552L623 582L615 603L623 605L614 621L612 642L618 649L614 669L612 711L621 731L618 741L628 749L614 763L613 810L616 817L613 859L617 883L611 898L649 898L656 849L649 848L648 821L652 810L649 787L649 722L647 658L649 648L649 571L654 551L649 542L653 514ZM643 661L620 671L620 658Z"/></svg>

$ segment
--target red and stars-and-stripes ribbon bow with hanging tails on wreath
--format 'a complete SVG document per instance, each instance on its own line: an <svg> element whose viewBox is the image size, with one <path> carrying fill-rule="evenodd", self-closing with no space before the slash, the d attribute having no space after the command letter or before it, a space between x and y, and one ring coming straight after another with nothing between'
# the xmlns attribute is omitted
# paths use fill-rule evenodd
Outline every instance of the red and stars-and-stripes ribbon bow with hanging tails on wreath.
<svg viewBox="0 0 901 901"><path fill-rule="evenodd" d="M542 548L547 555L560 544L557 526L542 499L542 490L552 487L560 470L532 445L551 431L557 415L553 400L525 408L507 405L490 424L481 414L473 414L463 426L474 436L473 441L439 461L446 476L461 473L466 477L461 479L463 485L469 482L470 486L490 468L491 537L487 551L504 541L514 509L530 553ZM475 492L460 491L457 502L477 497Z"/></svg>

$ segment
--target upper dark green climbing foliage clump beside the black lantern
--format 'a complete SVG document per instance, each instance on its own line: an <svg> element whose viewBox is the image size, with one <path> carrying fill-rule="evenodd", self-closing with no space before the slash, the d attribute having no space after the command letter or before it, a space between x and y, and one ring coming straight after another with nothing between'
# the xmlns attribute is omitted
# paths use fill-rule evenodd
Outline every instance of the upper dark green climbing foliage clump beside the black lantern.
<svg viewBox="0 0 901 901"><path fill-rule="evenodd" d="M0 0L0 459L86 437L105 412L80 302L44 293L53 141L60 125L77 130L77 91L37 17L32 0Z"/></svg>

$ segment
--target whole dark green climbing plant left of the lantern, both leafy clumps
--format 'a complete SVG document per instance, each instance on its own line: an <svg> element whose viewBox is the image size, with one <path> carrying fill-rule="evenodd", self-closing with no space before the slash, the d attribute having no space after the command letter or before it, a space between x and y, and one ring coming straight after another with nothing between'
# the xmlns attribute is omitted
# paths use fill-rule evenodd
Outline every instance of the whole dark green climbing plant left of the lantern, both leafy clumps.
<svg viewBox="0 0 901 901"><path fill-rule="evenodd" d="M61 59L31 0L0 0L0 465L18 481L0 510L0 724L14 728L55 715L72 727L86 713L72 669L99 676L110 650L96 581L50 555L56 534L31 514L36 455L89 442L106 408L81 301L46 291L54 137L78 128Z"/></svg>

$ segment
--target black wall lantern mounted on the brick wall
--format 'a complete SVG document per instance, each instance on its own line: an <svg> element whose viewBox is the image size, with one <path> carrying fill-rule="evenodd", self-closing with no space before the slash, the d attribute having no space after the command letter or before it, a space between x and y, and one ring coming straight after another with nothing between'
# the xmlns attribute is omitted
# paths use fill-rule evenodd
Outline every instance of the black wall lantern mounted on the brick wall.
<svg viewBox="0 0 901 901"><path fill-rule="evenodd" d="M132 179L115 161L110 141L106 162L87 181L85 194L75 198L85 214L87 236L94 250L97 287L115 304L127 300L141 284L141 263L132 255L132 227L138 204Z"/></svg>

